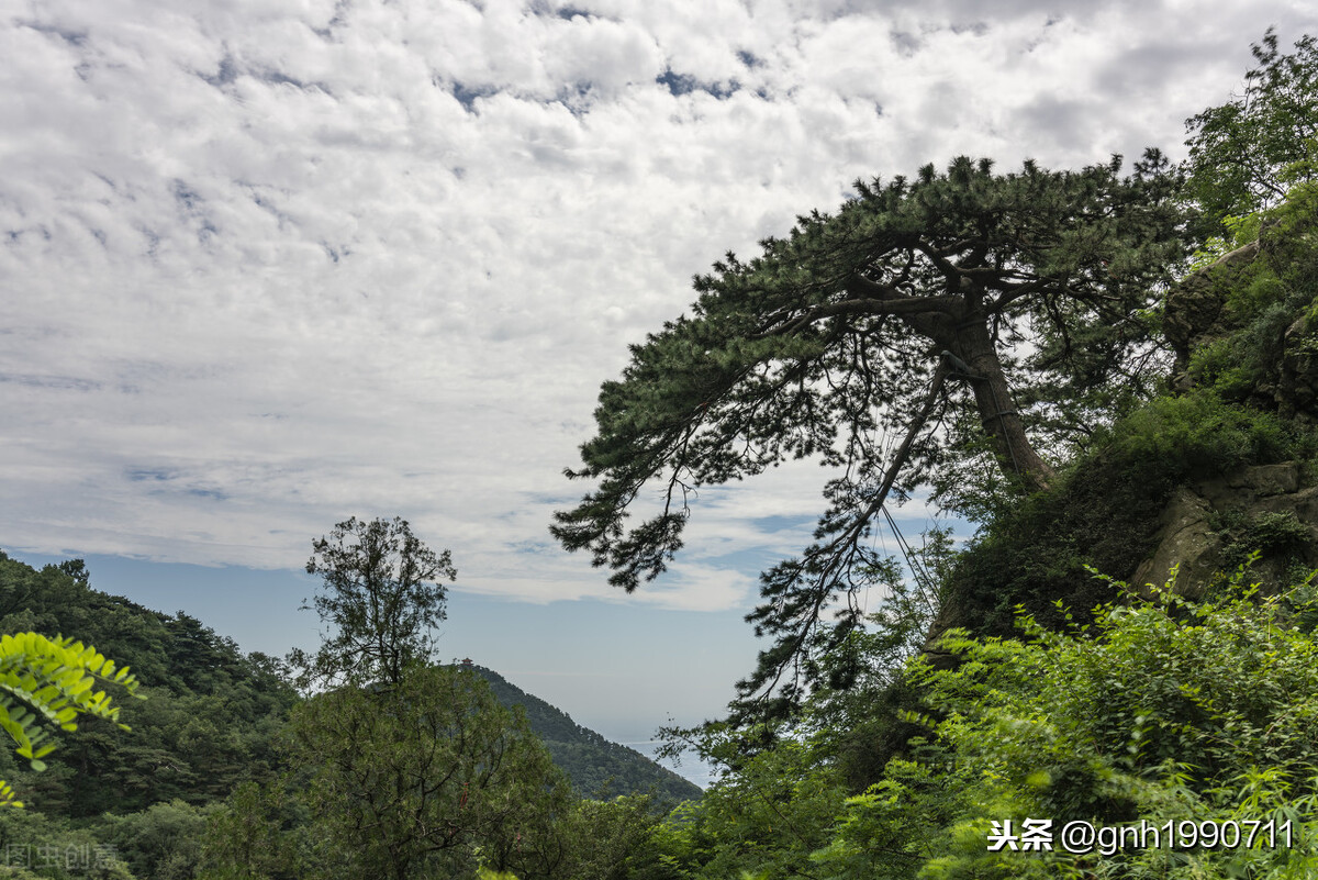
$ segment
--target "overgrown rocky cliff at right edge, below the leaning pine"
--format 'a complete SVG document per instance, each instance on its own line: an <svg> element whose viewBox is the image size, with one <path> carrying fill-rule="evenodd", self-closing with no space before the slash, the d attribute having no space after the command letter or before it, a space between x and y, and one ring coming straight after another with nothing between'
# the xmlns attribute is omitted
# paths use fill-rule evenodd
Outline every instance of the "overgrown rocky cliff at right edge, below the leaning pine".
<svg viewBox="0 0 1318 880"><path fill-rule="evenodd" d="M1165 299L1164 394L1103 428L1046 491L987 523L946 585L949 627L1011 635L1120 601L1111 581L1202 593L1318 566L1318 190L1240 224ZM1058 607L1061 602L1061 607Z"/></svg>

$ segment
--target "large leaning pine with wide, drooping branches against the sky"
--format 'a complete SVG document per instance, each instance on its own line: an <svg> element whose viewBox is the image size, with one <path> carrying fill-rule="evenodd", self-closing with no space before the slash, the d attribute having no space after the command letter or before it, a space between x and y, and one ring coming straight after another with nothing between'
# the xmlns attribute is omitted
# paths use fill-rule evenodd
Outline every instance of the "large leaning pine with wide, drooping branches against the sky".
<svg viewBox="0 0 1318 880"><path fill-rule="evenodd" d="M859 619L890 493L932 485L956 506L983 451L1000 482L1045 486L1048 444L1147 379L1144 310L1184 256L1178 174L1156 150L1130 175L1120 157L1010 174L962 157L855 188L762 256L729 253L695 279L689 316L631 346L567 472L598 486L552 526L630 591L681 547L695 489L789 457L833 466L816 543L762 576L750 617L775 643L743 693L788 701L825 610L845 597L825 649ZM647 486L658 510L629 528Z"/></svg>

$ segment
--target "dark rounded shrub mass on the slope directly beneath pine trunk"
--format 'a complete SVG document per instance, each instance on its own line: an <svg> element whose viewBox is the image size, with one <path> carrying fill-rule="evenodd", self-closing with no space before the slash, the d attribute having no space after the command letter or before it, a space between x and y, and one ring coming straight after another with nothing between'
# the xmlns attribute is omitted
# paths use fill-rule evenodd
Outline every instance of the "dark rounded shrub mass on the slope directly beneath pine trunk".
<svg viewBox="0 0 1318 880"><path fill-rule="evenodd" d="M1097 435L1052 490L982 528L950 574L941 624L1011 635L1015 609L1024 606L1056 627L1057 601L1083 618L1116 598L1085 568L1132 577L1155 549L1177 486L1248 465L1309 460L1315 441L1313 431L1211 389L1151 400Z"/></svg>

